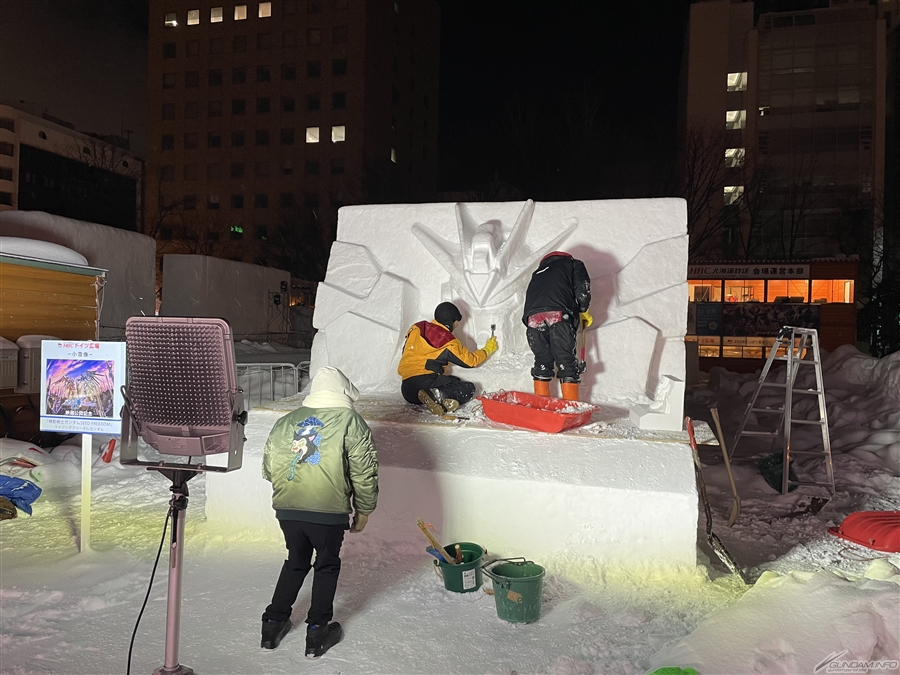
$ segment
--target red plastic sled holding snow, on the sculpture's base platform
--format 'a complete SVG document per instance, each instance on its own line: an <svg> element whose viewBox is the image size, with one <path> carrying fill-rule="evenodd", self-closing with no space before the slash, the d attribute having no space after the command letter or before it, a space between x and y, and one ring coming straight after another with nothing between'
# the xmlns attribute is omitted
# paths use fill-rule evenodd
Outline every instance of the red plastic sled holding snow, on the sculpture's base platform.
<svg viewBox="0 0 900 675"><path fill-rule="evenodd" d="M524 391L497 391L478 397L488 419L551 434L580 427L597 406Z"/></svg>

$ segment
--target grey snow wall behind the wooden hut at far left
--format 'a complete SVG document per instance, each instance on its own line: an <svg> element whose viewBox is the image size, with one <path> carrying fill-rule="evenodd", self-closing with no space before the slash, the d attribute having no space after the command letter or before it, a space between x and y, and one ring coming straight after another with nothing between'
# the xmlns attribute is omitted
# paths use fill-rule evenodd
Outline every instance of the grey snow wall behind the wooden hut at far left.
<svg viewBox="0 0 900 675"><path fill-rule="evenodd" d="M0 212L0 235L59 244L91 267L108 270L100 311L100 339L123 339L131 316L156 313L156 241L137 232L54 216L43 211Z"/></svg>

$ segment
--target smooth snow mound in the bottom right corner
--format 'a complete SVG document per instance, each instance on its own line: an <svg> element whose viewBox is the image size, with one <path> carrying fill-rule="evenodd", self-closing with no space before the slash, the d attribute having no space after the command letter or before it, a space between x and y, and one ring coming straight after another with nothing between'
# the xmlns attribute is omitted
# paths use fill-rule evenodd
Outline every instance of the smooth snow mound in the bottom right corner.
<svg viewBox="0 0 900 675"><path fill-rule="evenodd" d="M897 672L897 565L900 556L894 564L873 562L861 579L767 572L737 603L668 651L663 662L700 673L815 673L832 661L880 661L844 672Z"/></svg>

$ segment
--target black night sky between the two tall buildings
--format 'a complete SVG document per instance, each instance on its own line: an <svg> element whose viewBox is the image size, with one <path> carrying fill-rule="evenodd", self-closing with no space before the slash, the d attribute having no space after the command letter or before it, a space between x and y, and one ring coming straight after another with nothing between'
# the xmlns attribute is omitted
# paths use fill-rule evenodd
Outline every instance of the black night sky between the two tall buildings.
<svg viewBox="0 0 900 675"><path fill-rule="evenodd" d="M673 161L688 0L440 3L439 189L480 187L494 174L486 150L514 101L558 110L586 84L604 102L603 133L635 144L601 161Z"/></svg>

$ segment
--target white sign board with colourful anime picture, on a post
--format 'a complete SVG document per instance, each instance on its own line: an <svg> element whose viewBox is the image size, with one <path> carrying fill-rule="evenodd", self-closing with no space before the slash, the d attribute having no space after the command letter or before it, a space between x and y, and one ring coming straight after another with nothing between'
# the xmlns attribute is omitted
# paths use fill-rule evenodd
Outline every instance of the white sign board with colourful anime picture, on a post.
<svg viewBox="0 0 900 675"><path fill-rule="evenodd" d="M121 433L124 384L124 342L41 342L41 431L81 434L79 551L91 541L92 434Z"/></svg>

